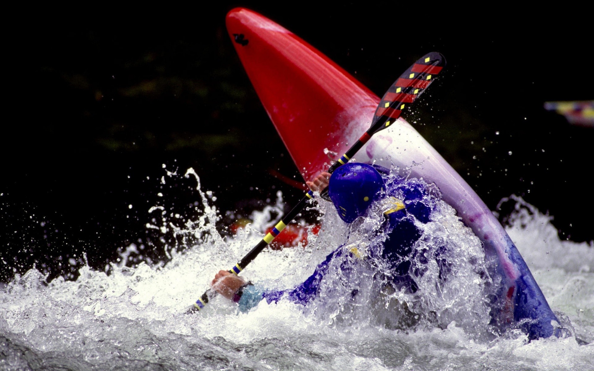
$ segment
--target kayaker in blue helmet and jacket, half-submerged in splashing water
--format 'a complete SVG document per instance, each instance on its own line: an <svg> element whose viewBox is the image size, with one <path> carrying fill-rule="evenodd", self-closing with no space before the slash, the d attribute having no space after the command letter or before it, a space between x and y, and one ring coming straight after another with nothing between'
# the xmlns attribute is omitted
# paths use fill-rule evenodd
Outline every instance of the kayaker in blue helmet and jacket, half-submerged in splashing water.
<svg viewBox="0 0 594 371"><path fill-rule="evenodd" d="M307 184L314 192L329 187L328 194L334 207L352 230L349 240L330 253L314 273L296 287L264 290L238 275L219 271L211 283L214 290L238 303L243 312L262 299L270 303L286 297L292 302L308 305L318 296L328 267L335 263L334 265L340 264L343 272L348 271L353 268L353 259L371 267L373 279L382 283L383 290L386 287L391 292L403 290L406 293L415 293L418 290L415 277L424 274L424 265L430 257L424 256L422 250L413 249L415 242L422 236L415 222L427 223L437 201L437 196L428 192L425 183L391 176L389 170L383 167L347 163L332 175L321 173ZM357 234L355 232L360 236L361 229L365 229L362 227L364 221L373 217L378 221L372 223L376 230L364 233L368 240L356 240L353 243L353 235ZM448 270L440 256L444 249L445 247L437 249L433 253L441 279L445 279ZM350 275L346 274L345 277ZM356 291L356 288L352 290L353 297L356 296Z"/></svg>

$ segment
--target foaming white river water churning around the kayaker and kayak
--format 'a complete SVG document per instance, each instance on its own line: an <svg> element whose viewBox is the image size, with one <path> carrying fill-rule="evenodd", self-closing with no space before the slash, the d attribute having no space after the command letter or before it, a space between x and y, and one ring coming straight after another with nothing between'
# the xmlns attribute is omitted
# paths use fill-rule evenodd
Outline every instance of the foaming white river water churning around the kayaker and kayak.
<svg viewBox="0 0 594 371"><path fill-rule="evenodd" d="M168 173L163 182L175 176ZM320 300L304 310L280 300L240 313L215 297L205 310L187 313L215 272L259 242L283 200L279 193L276 203L251 215L247 228L222 233L216 195L201 190L193 170L185 176L196 189L197 216L156 206L147 221L147 229L179 241L167 249L166 261L138 261L140 246L130 245L105 271L84 265L77 280L48 283L31 269L2 288L0 369L594 370L592 243L560 240L551 217L521 198L504 200L515 204L507 231L560 316L564 338L529 342L520 331L499 334L489 327L491 281L479 274L489 262L480 241L445 204L424 230L428 240L456 246L448 258L454 274L442 287L436 288L436 268L429 267L415 297L378 298L369 286L357 305ZM271 288L307 278L346 241L336 213L319 208L326 215L305 248L265 250L242 275ZM365 287L365 274L358 278ZM336 286L326 290L340 291ZM425 316L409 318L413 325L406 328L399 319L410 313L394 302L423 308Z"/></svg>

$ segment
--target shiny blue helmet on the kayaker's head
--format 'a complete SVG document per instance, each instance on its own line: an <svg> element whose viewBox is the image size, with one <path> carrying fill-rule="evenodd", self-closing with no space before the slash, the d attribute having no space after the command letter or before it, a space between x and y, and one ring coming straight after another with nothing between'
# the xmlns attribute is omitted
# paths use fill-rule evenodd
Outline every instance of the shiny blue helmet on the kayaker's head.
<svg viewBox="0 0 594 371"><path fill-rule="evenodd" d="M384 191L384 179L372 166L346 163L330 176L328 195L346 223L365 214L371 202Z"/></svg>

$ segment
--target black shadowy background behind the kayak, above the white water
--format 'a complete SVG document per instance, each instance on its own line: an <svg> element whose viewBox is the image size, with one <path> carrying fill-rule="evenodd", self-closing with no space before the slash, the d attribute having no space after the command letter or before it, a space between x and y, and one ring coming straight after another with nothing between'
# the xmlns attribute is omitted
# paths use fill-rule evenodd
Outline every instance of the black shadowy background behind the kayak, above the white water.
<svg viewBox="0 0 594 371"><path fill-rule="evenodd" d="M162 164L182 175L193 167L223 215L237 211L223 232L279 189L287 204L301 198L271 175L299 176L226 34L236 6L298 34L379 96L419 56L443 53L439 82L403 116L492 210L520 195L554 217L561 239L594 239L594 128L543 107L594 99L586 9L538 18L405 3L103 9L93 21L37 14L5 35L0 281L33 264L74 277L69 258L80 267L86 252L103 268L129 243L162 259L175 238L145 227L148 209L192 218L200 201L191 180L162 185Z"/></svg>

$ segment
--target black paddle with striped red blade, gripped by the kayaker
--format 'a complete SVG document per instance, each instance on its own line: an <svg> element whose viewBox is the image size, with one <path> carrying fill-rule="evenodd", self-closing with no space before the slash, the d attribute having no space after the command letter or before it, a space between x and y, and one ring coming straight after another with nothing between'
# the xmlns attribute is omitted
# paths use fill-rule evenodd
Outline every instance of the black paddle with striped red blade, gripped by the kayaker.
<svg viewBox="0 0 594 371"><path fill-rule="evenodd" d="M371 122L371 127L358 139L358 141L339 158L330 169L328 173L333 173L334 170L347 163L350 158L363 147L363 145L371 139L372 135L382 129L386 129L392 125L402 114L408 105L414 102L431 84L434 80L435 75L439 74L441 69L445 66L445 58L443 55L437 52L429 53L423 56L421 59L416 61L410 66L400 77L394 81L394 84L390 86L386 94L380 100L380 104L375 110L374 118ZM322 194L327 195L327 188L322 191ZM299 201L295 207L282 218L279 223L274 226L273 230L266 234L264 238L251 249L241 261L235 264L235 267L229 269L230 273L239 274L242 270L251 263L256 256L268 244L274 240L274 237L278 236L280 232L289 224L309 203L309 200L314 198L314 192L308 191L304 198ZM207 290L200 299L196 300L194 307L191 310L200 310L208 303L208 293L211 290Z"/></svg>

